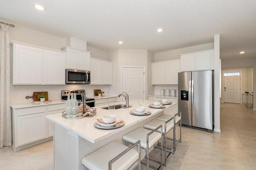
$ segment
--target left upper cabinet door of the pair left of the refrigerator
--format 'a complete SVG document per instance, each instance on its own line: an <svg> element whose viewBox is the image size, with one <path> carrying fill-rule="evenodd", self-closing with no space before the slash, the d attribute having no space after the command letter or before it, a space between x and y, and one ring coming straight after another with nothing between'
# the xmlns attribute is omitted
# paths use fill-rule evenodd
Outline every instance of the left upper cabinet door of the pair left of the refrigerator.
<svg viewBox="0 0 256 170"><path fill-rule="evenodd" d="M152 84L165 84L165 63L152 63Z"/></svg>

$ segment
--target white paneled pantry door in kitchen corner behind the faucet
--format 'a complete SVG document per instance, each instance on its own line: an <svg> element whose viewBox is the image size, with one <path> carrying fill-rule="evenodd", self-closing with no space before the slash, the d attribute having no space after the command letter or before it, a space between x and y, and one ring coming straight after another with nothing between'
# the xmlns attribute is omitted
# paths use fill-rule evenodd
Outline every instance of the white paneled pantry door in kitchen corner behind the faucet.
<svg viewBox="0 0 256 170"><path fill-rule="evenodd" d="M122 68L122 91L129 95L129 100L144 99L144 68Z"/></svg>

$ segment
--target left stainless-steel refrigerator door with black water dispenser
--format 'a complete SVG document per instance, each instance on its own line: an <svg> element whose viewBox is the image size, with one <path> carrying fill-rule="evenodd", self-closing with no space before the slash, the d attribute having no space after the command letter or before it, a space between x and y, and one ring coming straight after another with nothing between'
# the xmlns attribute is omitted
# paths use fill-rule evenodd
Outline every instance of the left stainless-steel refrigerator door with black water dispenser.
<svg viewBox="0 0 256 170"><path fill-rule="evenodd" d="M178 111L181 111L182 124L192 126L190 83L191 72L178 73Z"/></svg>

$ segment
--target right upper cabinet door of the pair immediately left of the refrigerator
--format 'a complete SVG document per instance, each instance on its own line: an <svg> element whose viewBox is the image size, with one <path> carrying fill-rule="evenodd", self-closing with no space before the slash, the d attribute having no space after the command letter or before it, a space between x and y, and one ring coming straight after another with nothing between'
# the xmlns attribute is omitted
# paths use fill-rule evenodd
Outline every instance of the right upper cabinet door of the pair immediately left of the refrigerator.
<svg viewBox="0 0 256 170"><path fill-rule="evenodd" d="M180 60L165 62L165 83L168 85L178 84L178 73L180 72Z"/></svg>

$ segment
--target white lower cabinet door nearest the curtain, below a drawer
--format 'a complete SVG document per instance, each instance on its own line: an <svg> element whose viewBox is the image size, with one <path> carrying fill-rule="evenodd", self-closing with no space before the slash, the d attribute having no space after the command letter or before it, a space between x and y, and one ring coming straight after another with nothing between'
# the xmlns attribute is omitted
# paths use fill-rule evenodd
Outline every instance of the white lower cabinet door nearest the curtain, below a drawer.
<svg viewBox="0 0 256 170"><path fill-rule="evenodd" d="M45 112L17 117L17 146L46 138Z"/></svg>

